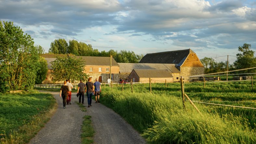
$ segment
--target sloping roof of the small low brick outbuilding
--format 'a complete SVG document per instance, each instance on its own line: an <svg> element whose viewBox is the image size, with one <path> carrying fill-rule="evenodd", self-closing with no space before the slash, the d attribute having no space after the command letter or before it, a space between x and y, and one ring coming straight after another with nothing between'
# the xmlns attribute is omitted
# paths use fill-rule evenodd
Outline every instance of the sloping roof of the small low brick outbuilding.
<svg viewBox="0 0 256 144"><path fill-rule="evenodd" d="M136 72L139 78L172 78L173 77L173 75L167 70L134 69L133 71Z"/></svg>

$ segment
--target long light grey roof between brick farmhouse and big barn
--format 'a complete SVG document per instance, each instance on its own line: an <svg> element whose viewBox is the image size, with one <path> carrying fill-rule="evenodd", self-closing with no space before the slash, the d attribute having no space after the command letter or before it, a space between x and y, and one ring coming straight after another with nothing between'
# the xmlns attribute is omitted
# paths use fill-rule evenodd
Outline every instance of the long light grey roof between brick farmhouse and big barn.
<svg viewBox="0 0 256 144"><path fill-rule="evenodd" d="M118 63L120 66L120 73L131 73L133 69L166 69L170 73L180 73L175 67L175 64L163 64L163 63Z"/></svg>

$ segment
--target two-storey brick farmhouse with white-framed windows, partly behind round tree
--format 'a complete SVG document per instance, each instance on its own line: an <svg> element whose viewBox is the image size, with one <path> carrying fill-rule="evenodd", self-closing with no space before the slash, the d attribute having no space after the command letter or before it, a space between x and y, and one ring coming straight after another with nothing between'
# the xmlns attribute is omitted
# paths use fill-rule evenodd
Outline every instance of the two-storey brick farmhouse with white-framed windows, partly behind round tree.
<svg viewBox="0 0 256 144"><path fill-rule="evenodd" d="M42 57L47 61L48 72L46 76L46 80L43 83L53 83L52 75L51 75L51 63L56 60L57 56L65 56L65 55L57 55L57 54L42 54ZM110 57L91 57L91 56L75 56L69 55L76 58L82 58L84 63L85 73L92 77L93 81L98 78L99 82L107 82L109 79L110 72ZM113 82L119 82L119 65L112 58L111 60L111 80Z"/></svg>

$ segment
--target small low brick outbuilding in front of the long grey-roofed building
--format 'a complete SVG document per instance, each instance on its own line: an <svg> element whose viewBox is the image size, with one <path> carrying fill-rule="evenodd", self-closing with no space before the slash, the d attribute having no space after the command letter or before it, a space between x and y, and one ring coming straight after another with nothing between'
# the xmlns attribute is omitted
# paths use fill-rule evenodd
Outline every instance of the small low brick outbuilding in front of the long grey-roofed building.
<svg viewBox="0 0 256 144"><path fill-rule="evenodd" d="M151 78L151 83L165 83L165 80L168 83L173 82L173 76L168 70L156 69L133 69L128 76L128 82L132 80L135 83L149 83L149 78Z"/></svg>

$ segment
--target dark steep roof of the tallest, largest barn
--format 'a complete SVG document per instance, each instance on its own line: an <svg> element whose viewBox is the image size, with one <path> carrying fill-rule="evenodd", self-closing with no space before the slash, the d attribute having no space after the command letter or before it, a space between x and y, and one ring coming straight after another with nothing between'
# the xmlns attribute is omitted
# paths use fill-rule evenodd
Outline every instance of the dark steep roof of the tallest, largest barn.
<svg viewBox="0 0 256 144"><path fill-rule="evenodd" d="M189 53L195 52L190 49L186 49L148 53L140 60L139 63L170 63L178 64L177 66L181 66Z"/></svg>

